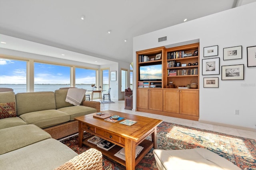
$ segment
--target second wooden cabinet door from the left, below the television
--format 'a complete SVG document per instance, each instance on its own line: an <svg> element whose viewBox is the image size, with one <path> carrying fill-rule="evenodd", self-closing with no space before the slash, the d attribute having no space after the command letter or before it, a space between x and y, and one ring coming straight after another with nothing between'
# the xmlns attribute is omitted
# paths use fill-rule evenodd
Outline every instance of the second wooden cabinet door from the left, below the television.
<svg viewBox="0 0 256 170"><path fill-rule="evenodd" d="M149 90L149 109L163 111L163 90Z"/></svg>

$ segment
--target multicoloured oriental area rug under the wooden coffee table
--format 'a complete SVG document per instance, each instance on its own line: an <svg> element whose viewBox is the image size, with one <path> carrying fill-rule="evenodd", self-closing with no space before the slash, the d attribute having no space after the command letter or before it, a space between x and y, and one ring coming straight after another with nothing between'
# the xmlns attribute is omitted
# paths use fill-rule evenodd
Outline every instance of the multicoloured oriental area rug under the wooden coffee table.
<svg viewBox="0 0 256 170"><path fill-rule="evenodd" d="M90 133L85 132L84 137ZM147 138L151 140L151 137ZM78 154L90 149L78 147L78 135L60 140ZM177 150L206 148L226 158L242 170L256 170L256 141L214 131L162 122L157 127L157 149ZM121 164L103 156L103 170L125 170ZM153 149L135 167L136 170L158 170Z"/></svg>

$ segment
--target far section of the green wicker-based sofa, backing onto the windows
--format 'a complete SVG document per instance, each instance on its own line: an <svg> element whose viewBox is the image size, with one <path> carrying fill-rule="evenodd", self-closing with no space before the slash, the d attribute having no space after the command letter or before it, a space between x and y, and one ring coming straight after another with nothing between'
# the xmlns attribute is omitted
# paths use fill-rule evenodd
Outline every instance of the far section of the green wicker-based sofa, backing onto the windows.
<svg viewBox="0 0 256 170"><path fill-rule="evenodd" d="M34 124L60 139L78 132L75 117L100 111L100 102L82 100L80 106L65 102L68 89L55 92L0 92L0 103L14 102L17 117L0 119L0 129Z"/></svg>

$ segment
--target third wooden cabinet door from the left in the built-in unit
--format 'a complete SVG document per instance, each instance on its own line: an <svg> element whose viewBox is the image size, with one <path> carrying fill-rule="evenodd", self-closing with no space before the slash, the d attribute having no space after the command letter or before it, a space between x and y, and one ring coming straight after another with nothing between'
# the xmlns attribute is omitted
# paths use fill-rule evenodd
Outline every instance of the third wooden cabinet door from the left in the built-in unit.
<svg viewBox="0 0 256 170"><path fill-rule="evenodd" d="M180 113L180 90L164 90L163 98L163 111Z"/></svg>

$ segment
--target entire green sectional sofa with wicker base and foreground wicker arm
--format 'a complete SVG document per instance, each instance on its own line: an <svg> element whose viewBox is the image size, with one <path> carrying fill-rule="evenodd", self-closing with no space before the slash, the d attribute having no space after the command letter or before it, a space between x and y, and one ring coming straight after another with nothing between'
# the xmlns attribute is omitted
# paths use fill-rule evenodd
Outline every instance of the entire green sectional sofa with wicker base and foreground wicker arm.
<svg viewBox="0 0 256 170"><path fill-rule="evenodd" d="M80 106L65 102L67 92L0 92L0 170L102 169L100 151L78 155L56 140L78 132L74 117L100 111L85 98Z"/></svg>

